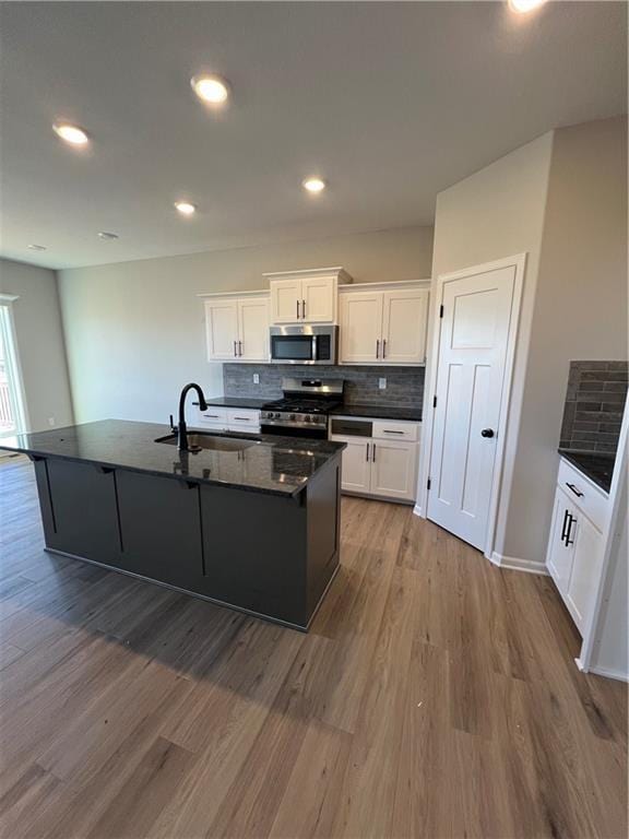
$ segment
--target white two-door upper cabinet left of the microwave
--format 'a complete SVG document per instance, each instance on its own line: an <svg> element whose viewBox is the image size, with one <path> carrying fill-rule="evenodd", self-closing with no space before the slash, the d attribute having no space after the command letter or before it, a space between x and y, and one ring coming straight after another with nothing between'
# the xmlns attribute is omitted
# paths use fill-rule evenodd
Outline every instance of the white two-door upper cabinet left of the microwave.
<svg viewBox="0 0 629 839"><path fill-rule="evenodd" d="M269 361L269 293L201 295L209 362Z"/></svg>

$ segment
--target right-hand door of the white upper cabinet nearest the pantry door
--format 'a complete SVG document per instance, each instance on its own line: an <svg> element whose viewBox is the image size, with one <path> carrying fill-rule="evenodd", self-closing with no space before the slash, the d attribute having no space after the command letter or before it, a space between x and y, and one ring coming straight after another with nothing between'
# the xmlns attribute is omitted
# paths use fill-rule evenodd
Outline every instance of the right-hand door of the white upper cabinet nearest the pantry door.
<svg viewBox="0 0 629 839"><path fill-rule="evenodd" d="M426 361L429 295L420 288L384 292L381 357L389 364Z"/></svg>

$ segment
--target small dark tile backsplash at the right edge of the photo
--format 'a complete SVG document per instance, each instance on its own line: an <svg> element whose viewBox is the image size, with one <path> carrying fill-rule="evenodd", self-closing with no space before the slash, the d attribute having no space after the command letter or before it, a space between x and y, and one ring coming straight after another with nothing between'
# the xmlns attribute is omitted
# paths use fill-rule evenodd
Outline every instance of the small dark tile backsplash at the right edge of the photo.
<svg viewBox="0 0 629 839"><path fill-rule="evenodd" d="M570 362L561 448L616 453L627 369L627 362Z"/></svg>

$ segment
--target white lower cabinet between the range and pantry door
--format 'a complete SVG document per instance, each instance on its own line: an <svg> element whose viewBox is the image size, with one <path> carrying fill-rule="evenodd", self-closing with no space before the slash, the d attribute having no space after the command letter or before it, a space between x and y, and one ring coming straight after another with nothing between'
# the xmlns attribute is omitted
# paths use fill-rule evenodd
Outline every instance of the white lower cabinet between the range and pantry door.
<svg viewBox="0 0 629 839"><path fill-rule="evenodd" d="M351 422L351 421L349 421ZM360 421L372 424L372 436L331 435L331 440L345 442L343 483L346 493L414 501L417 489L419 424ZM395 435L394 439L390 435Z"/></svg>

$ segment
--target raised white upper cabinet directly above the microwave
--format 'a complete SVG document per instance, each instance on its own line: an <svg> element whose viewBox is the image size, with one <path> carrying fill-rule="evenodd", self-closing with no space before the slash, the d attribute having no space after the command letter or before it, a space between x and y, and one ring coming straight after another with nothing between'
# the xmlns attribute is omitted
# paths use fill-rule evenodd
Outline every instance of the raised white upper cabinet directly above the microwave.
<svg viewBox="0 0 629 839"><path fill-rule="evenodd" d="M352 282L342 268L264 274L272 323L336 323L339 285Z"/></svg>

